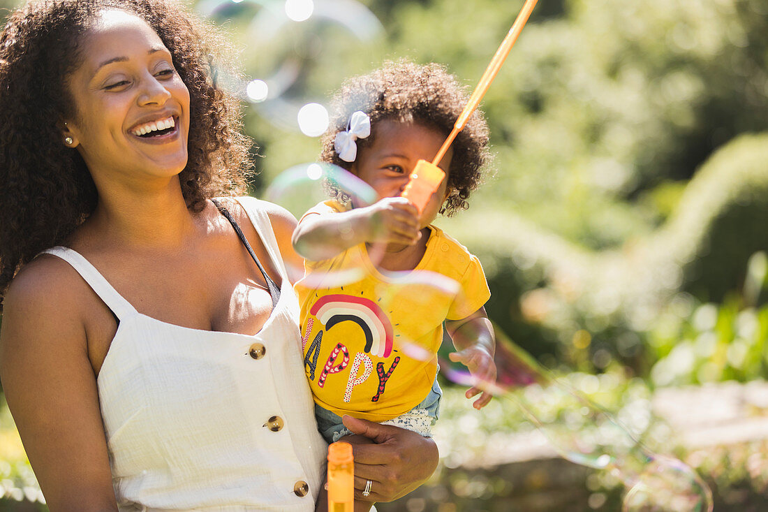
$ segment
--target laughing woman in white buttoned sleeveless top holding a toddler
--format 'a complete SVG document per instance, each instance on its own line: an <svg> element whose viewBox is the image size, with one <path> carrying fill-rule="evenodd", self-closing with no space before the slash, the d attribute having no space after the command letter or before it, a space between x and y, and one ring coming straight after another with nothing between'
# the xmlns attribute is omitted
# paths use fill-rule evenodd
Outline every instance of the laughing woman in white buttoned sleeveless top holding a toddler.
<svg viewBox="0 0 768 512"><path fill-rule="evenodd" d="M218 45L164 0L34 2L0 35L0 375L54 512L319 497L296 220L210 200L247 168ZM347 421L376 441L356 446L356 497L434 470L431 440Z"/></svg>

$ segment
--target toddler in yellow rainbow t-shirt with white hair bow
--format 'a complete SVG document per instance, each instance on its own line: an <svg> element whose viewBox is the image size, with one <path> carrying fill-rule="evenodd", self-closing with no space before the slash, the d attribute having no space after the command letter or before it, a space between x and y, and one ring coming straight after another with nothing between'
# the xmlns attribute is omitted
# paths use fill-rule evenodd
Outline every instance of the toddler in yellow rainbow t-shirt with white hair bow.
<svg viewBox="0 0 768 512"><path fill-rule="evenodd" d="M457 349L451 360L478 381L467 397L481 394L478 409L491 400L479 385L496 375L485 274L474 255L431 224L438 213L466 208L478 185L488 157L482 116L472 115L439 162L445 179L421 214L400 197L416 161L432 161L467 98L441 66L406 62L353 78L335 97L321 160L365 181L379 199L359 204L336 190L293 234L305 258L296 283L305 370L329 442L350 433L344 414L430 435L442 396L435 377L444 323ZM358 281L333 278L353 269L363 270ZM458 286L448 293L399 277L409 271L442 274Z"/></svg>

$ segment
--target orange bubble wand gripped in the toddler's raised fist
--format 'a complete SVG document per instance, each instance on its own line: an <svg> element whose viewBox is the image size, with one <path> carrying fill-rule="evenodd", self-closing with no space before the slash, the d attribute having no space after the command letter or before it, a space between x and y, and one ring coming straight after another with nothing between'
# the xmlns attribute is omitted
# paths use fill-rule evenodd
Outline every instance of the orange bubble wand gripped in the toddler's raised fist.
<svg viewBox="0 0 768 512"><path fill-rule="evenodd" d="M531 12L533 12L536 2L538 2L538 0L525 0L525 4L523 5L523 8L521 8L518 17L515 19L515 23L512 24L512 28L509 29L507 37L504 38L504 41L502 41L502 44L498 47L498 50L496 50L496 54L491 59L491 63L488 64L488 68L485 69L485 73L483 73L482 78L480 78L477 87L475 87L475 91L473 91L472 96L469 97L469 101L462 111L462 114L456 119L450 135L445 139L445 142L443 142L442 147L437 152L437 155L435 155L435 159L432 160L432 163L429 163L426 160L419 160L416 162L416 166L413 168L410 175L408 185L406 185L406 188L402 191L402 197L408 198L416 208L419 208L419 212L425 208L426 204L429 202L429 198L432 197L432 194L435 193L442 183L443 178L445 178L445 172L443 172L437 165L445 156L448 148L451 147L458 132L462 131L466 126L467 121L469 121L469 116L472 115L475 108L478 108L480 100L485 96L485 92L491 87L491 82L496 78L496 75L498 75L498 70L502 68L502 64L504 64L507 55L509 55L512 45L518 40L518 35L522 32L525 23L528 22L528 18L531 16Z"/></svg>

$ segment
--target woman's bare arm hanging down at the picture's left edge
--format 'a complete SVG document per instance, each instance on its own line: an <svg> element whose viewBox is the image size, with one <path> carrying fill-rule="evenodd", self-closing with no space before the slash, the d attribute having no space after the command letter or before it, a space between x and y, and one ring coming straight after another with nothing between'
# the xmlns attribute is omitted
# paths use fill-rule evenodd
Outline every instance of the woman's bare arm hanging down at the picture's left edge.
<svg viewBox="0 0 768 512"><path fill-rule="evenodd" d="M87 285L51 258L28 264L5 296L3 390L51 512L113 512L83 301L72 293Z"/></svg>

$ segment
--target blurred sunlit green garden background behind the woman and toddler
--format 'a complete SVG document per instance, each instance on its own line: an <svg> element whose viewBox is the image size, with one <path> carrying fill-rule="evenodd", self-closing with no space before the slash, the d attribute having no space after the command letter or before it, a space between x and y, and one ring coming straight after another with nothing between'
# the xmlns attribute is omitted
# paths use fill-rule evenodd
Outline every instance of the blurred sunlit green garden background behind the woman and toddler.
<svg viewBox="0 0 768 512"><path fill-rule="evenodd" d="M405 57L473 88L522 2L193 5L246 71L217 80L260 155L252 194L308 172L277 196L300 215L343 78ZM498 337L694 467L718 512L768 510L768 2L540 0L481 108L495 161L438 224L480 257ZM380 511L620 509L616 477L558 457L514 404L478 412L444 384L439 470ZM2 404L0 510L46 510Z"/></svg>

